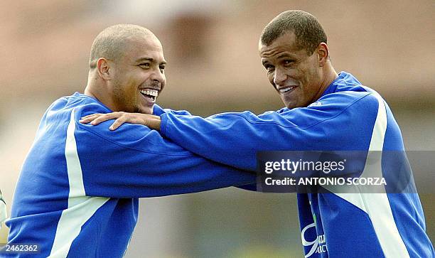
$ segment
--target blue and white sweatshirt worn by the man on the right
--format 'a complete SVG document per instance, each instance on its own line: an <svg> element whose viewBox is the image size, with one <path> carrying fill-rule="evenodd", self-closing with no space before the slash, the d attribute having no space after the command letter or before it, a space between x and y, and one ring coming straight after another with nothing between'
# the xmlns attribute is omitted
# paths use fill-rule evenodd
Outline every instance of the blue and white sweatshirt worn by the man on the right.
<svg viewBox="0 0 435 258"><path fill-rule="evenodd" d="M165 113L161 134L195 154L252 171L257 151L404 151L388 105L347 72L308 107L205 119ZM377 171L394 177L384 163ZM305 257L435 257L417 190L409 187L407 193L299 193Z"/></svg>

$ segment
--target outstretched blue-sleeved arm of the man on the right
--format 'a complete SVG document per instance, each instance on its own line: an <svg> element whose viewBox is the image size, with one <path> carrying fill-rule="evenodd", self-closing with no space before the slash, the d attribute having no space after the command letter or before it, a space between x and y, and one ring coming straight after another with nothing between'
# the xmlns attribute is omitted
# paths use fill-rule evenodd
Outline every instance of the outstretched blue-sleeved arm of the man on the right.
<svg viewBox="0 0 435 258"><path fill-rule="evenodd" d="M313 107L255 115L231 112L203 118L171 112L158 117L122 114L145 124L195 154L254 171L257 151L364 150L370 143L377 98L369 92L326 95ZM129 117L130 116L130 117ZM149 116L149 115L148 115ZM105 120L104 117L95 119ZM89 121L91 121L90 119Z"/></svg>

